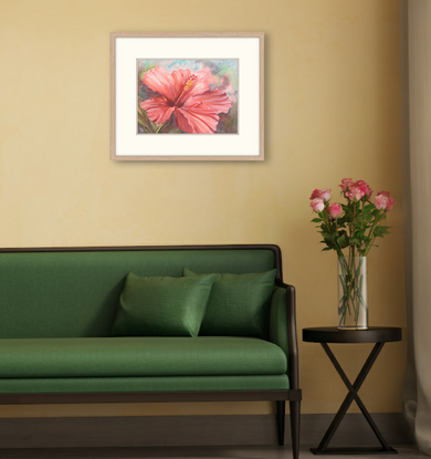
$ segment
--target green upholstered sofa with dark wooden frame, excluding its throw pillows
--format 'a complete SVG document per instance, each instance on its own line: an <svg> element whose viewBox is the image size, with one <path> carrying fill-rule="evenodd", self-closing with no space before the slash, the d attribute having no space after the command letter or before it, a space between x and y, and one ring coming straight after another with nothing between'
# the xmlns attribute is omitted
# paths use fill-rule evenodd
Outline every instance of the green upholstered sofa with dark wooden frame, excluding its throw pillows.
<svg viewBox="0 0 431 459"><path fill-rule="evenodd" d="M255 311L241 298L210 311L222 279L210 275L196 336L122 335L113 330L130 272L136 279L229 273L233 285L250 273L273 272L275 280ZM257 288L246 280L252 303ZM0 310L0 405L274 400L284 445L290 400L298 457L295 291L283 283L276 246L2 249Z"/></svg>

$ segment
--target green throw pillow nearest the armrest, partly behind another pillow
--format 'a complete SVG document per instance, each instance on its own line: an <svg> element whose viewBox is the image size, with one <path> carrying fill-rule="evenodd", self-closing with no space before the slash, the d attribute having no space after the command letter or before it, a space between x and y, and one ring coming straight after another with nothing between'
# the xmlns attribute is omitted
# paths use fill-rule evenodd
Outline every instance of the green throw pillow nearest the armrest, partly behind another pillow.
<svg viewBox="0 0 431 459"><path fill-rule="evenodd" d="M182 274L202 275L187 268ZM266 338L275 274L275 269L260 274L216 274L199 334Z"/></svg>

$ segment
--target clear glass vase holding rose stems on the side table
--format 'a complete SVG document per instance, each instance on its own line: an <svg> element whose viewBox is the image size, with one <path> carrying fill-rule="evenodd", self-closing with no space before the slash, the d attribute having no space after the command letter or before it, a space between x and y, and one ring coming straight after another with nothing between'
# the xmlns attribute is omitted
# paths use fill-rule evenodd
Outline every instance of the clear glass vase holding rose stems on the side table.
<svg viewBox="0 0 431 459"><path fill-rule="evenodd" d="M366 257L338 257L338 328L368 328Z"/></svg>

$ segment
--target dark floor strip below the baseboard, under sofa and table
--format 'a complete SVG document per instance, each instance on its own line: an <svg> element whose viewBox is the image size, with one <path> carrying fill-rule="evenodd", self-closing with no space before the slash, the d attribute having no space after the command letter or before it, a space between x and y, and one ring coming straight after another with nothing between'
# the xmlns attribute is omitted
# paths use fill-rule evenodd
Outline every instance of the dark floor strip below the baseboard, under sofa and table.
<svg viewBox="0 0 431 459"><path fill-rule="evenodd" d="M397 459L427 458L412 445L395 446L398 455L385 455ZM328 455L326 458L377 459L382 455ZM50 449L1 449L1 459L291 459L290 447L238 446L238 447L148 447L148 448L50 448ZM301 459L316 458L309 448L301 448Z"/></svg>

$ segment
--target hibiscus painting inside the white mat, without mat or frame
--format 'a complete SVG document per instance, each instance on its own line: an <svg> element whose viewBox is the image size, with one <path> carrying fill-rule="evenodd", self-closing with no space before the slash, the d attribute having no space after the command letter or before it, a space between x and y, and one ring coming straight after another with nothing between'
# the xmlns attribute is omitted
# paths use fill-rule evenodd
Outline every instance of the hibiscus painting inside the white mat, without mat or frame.
<svg viewBox="0 0 431 459"><path fill-rule="evenodd" d="M138 134L238 134L238 60L137 60Z"/></svg>

